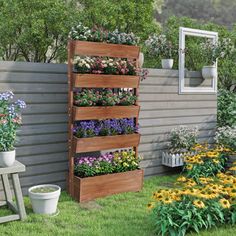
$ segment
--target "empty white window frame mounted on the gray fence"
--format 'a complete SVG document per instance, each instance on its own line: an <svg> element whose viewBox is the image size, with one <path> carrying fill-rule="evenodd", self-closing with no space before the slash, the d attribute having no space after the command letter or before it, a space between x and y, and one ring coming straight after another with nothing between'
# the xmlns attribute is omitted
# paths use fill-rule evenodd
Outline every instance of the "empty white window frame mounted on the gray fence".
<svg viewBox="0 0 236 236"><path fill-rule="evenodd" d="M179 94L183 93L216 93L217 77L212 79L211 87L185 87L185 37L195 36L212 39L213 43L218 41L218 33L213 31L179 28ZM217 69L217 62L216 62Z"/></svg>

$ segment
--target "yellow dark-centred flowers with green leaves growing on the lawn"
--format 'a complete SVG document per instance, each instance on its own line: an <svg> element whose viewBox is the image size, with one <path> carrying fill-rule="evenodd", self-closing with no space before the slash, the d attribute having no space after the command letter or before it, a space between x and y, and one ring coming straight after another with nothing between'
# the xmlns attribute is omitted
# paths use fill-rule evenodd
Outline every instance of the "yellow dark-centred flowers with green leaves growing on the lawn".
<svg viewBox="0 0 236 236"><path fill-rule="evenodd" d="M220 224L236 223L236 177L223 173L222 148L197 145L198 152L186 157L186 176L176 188L153 193L152 219L157 235L185 235Z"/></svg>

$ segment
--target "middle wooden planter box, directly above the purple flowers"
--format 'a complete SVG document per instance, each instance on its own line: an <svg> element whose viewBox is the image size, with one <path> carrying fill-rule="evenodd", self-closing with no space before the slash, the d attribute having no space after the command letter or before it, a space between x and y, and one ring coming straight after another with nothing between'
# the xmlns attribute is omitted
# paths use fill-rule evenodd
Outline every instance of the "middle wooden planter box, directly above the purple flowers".
<svg viewBox="0 0 236 236"><path fill-rule="evenodd" d="M140 106L73 107L74 120L138 117Z"/></svg>

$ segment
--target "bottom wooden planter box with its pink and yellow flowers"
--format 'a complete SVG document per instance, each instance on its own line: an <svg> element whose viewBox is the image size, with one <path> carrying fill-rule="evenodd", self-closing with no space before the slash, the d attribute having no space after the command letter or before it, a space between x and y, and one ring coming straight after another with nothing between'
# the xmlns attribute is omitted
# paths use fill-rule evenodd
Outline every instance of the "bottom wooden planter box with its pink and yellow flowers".
<svg viewBox="0 0 236 236"><path fill-rule="evenodd" d="M132 150L76 158L75 198L81 202L141 190L143 171L139 170L139 162L140 157L136 157Z"/></svg>

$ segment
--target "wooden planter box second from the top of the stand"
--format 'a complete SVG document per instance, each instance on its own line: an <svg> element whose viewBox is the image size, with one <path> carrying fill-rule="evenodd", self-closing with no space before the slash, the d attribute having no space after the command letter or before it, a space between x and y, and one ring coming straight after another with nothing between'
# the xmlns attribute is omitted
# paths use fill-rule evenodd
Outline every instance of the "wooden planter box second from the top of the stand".
<svg viewBox="0 0 236 236"><path fill-rule="evenodd" d="M74 87L83 88L138 88L139 76L73 74Z"/></svg>

